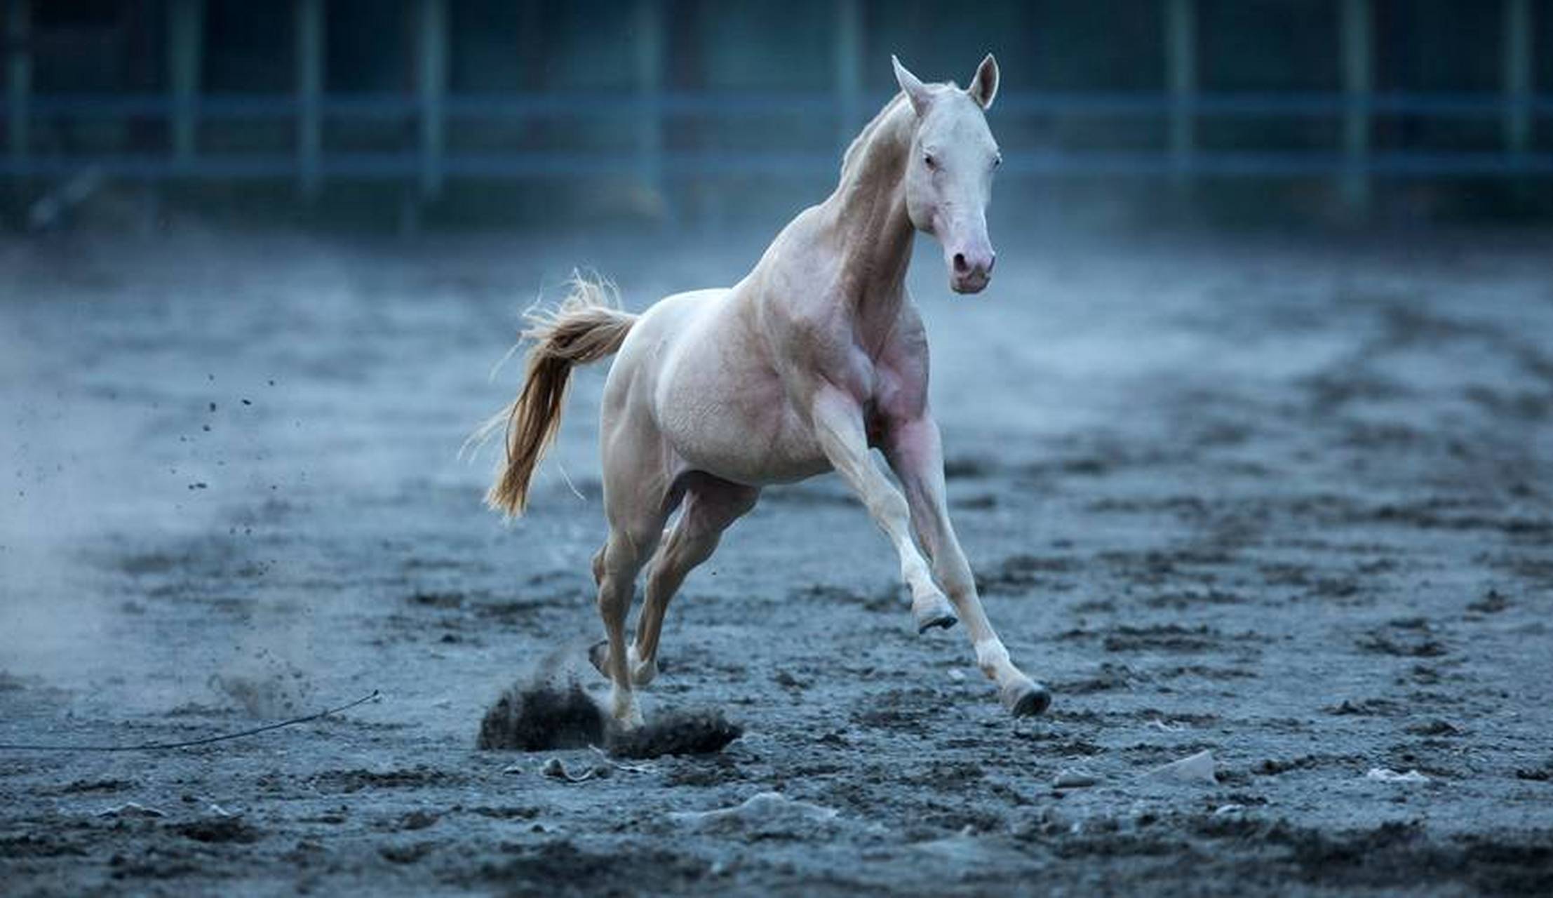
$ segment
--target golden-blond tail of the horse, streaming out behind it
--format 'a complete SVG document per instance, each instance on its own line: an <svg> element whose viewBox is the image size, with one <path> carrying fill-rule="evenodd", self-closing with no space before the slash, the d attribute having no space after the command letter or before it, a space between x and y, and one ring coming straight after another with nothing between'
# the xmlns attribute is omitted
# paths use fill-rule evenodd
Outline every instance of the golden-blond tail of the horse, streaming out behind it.
<svg viewBox="0 0 1553 898"><path fill-rule="evenodd" d="M573 275L570 287L558 308L528 312L520 339L533 340L534 346L528 351L523 388L474 437L483 440L506 430L506 460L486 493L486 505L509 517L528 505L528 482L561 427L572 367L615 354L637 323L637 315L621 311L613 284Z"/></svg>

